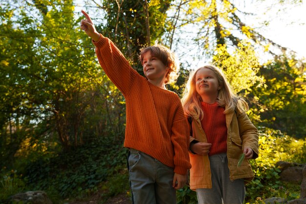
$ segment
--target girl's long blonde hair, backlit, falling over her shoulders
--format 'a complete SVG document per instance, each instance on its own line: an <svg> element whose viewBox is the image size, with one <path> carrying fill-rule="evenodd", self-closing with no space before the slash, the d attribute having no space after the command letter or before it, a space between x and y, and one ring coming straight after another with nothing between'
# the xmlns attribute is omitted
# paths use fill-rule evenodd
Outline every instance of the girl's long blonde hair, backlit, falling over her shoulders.
<svg viewBox="0 0 306 204"><path fill-rule="evenodd" d="M245 100L234 93L222 70L213 65L207 64L190 72L183 97L181 99L184 113L186 115L195 119L199 118L200 120L204 116L201 108L202 98L196 90L196 74L197 71L202 68L211 69L218 78L221 89L218 92L217 102L219 106L225 107L224 114L232 113L235 110L238 111L238 113L242 113L249 109Z"/></svg>

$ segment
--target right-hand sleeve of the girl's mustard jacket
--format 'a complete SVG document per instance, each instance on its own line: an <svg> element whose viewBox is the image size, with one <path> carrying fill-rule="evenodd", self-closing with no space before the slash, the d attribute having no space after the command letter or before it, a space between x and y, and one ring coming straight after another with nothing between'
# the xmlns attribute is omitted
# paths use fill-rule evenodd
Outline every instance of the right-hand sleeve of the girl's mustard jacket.
<svg viewBox="0 0 306 204"><path fill-rule="evenodd" d="M244 149L245 147L250 147L254 152L253 159L258 158L259 137L257 128L253 125L247 114L244 112L239 113L237 119L239 124L239 132L242 140L242 149Z"/></svg>

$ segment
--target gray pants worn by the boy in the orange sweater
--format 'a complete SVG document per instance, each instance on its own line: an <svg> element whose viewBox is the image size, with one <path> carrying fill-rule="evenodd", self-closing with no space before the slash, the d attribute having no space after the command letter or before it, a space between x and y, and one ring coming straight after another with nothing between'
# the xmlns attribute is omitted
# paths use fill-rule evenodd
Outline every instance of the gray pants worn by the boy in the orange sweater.
<svg viewBox="0 0 306 204"><path fill-rule="evenodd" d="M173 168L134 149L128 164L133 204L176 204Z"/></svg>

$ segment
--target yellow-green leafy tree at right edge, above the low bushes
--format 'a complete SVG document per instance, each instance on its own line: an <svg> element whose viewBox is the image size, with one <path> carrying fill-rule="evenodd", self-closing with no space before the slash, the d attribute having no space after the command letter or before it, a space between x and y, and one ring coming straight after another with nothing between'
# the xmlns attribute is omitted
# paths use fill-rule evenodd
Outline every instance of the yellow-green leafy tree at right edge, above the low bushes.
<svg viewBox="0 0 306 204"><path fill-rule="evenodd" d="M306 136L305 63L286 56L275 57L259 72L265 86L253 86L249 95L251 115L259 125L279 129L290 136ZM256 116L255 116L256 118Z"/></svg>

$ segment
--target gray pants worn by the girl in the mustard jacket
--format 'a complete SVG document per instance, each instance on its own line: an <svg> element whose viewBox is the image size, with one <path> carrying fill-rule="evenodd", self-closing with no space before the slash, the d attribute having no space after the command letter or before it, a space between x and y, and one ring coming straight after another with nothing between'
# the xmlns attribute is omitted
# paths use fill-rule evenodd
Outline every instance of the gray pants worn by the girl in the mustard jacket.
<svg viewBox="0 0 306 204"><path fill-rule="evenodd" d="M212 188L197 189L199 204L242 204L245 196L243 179L231 181L226 154L209 157Z"/></svg>

